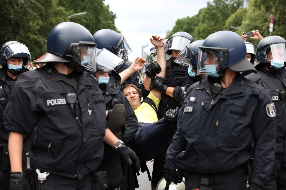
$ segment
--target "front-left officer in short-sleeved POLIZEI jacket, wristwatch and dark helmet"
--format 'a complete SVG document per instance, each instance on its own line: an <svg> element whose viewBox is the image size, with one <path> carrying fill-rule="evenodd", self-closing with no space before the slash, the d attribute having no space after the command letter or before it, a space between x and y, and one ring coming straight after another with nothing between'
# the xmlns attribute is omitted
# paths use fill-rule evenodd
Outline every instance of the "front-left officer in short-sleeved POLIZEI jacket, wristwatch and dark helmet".
<svg viewBox="0 0 286 190"><path fill-rule="evenodd" d="M23 134L32 133L29 153L36 189L92 189L103 140L130 165L136 160L105 127L104 97L94 76L84 71L96 71L95 55L92 34L80 24L63 22L50 32L47 52L37 62L47 65L18 79L4 114L11 189L29 189L21 167Z"/></svg>

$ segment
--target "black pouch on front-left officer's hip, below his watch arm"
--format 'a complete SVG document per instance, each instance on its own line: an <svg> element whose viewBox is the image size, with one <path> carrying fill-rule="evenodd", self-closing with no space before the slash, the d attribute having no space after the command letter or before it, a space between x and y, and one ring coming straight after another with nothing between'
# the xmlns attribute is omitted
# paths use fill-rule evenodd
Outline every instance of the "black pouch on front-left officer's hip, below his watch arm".
<svg viewBox="0 0 286 190"><path fill-rule="evenodd" d="M105 171L97 171L92 173L92 190L107 189L108 181Z"/></svg>

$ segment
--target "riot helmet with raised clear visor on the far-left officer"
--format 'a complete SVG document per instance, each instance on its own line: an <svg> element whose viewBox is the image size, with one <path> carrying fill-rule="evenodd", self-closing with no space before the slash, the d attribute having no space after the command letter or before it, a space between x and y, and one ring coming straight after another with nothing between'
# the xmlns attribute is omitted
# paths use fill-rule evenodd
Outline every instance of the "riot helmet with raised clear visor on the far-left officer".
<svg viewBox="0 0 286 190"><path fill-rule="evenodd" d="M23 43L12 43L12 44L9 44L8 46L6 46L5 49L1 52L0 59L4 63L6 63L7 60L9 58L13 57L15 54L20 55L17 57L30 57L30 59L31 59L29 49Z"/></svg>

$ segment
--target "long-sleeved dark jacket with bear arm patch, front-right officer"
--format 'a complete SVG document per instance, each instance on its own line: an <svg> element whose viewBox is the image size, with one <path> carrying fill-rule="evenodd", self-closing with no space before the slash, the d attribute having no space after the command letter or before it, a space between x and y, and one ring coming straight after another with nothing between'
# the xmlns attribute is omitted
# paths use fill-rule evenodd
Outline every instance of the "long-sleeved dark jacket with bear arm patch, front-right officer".
<svg viewBox="0 0 286 190"><path fill-rule="evenodd" d="M263 185L272 170L276 136L268 91L239 73L216 98L211 86L204 79L188 89L165 167L223 173L242 166L253 153L251 182Z"/></svg>

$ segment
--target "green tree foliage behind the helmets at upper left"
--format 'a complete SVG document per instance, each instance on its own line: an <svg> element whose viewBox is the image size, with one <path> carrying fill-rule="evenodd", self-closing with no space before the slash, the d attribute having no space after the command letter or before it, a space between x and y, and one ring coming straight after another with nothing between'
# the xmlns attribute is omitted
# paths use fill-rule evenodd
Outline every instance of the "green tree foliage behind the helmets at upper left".
<svg viewBox="0 0 286 190"><path fill-rule="evenodd" d="M77 22L92 34L103 28L116 30L116 15L104 0L0 0L0 44L19 41L27 45L32 59L46 52L49 32L65 21ZM69 15L87 12L68 18Z"/></svg>

